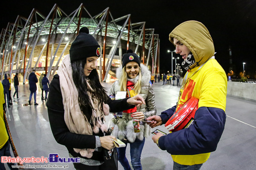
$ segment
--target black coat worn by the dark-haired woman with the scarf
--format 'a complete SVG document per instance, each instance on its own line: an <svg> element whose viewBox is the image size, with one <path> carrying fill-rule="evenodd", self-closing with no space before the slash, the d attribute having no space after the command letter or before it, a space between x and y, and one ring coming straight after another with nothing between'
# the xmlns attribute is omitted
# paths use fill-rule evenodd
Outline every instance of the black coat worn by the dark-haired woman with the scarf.
<svg viewBox="0 0 256 170"><path fill-rule="evenodd" d="M47 101L47 110L49 116L50 126L55 140L67 147L68 152L73 157L82 157L80 153L76 153L73 148L95 148L97 136L104 136L103 132L93 135L83 135L72 133L68 130L64 120L64 106L63 98L61 94L59 75L55 75L49 87L49 96ZM106 102L109 105L111 112L120 112L135 107L134 105L128 106L127 99L123 100L111 100L108 98ZM89 110L88 110L89 112ZM92 111L91 111L92 112ZM87 157L83 157L88 159ZM93 157L90 159L103 161L103 152L94 151Z"/></svg>

